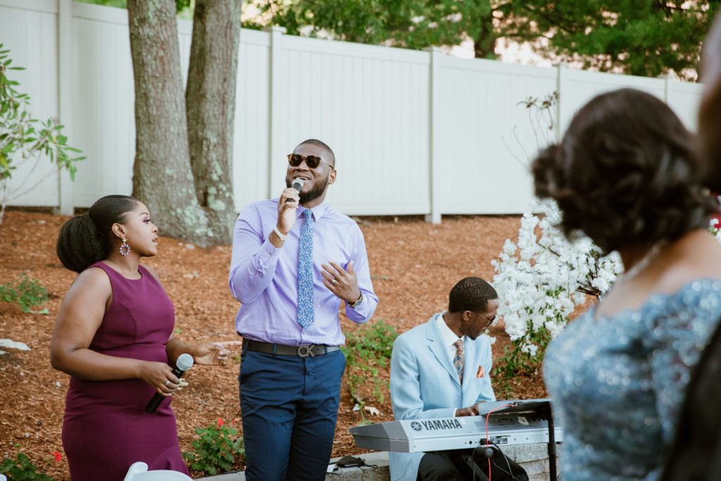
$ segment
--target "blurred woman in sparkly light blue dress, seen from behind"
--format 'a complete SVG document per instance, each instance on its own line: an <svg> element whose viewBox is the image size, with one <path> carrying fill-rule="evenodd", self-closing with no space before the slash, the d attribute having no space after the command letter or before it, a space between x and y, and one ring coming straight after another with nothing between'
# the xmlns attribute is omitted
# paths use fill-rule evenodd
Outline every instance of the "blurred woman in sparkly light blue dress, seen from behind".
<svg viewBox="0 0 721 481"><path fill-rule="evenodd" d="M563 479L645 479L721 317L721 244L691 136L656 97L622 89L588 102L533 173L565 234L618 251L625 269L547 349Z"/></svg>

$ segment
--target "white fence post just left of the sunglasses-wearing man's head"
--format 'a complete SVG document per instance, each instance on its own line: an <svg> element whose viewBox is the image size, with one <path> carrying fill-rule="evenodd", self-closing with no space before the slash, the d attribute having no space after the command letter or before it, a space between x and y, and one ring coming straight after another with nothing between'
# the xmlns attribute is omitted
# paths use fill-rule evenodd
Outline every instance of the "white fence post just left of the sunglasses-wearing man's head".
<svg viewBox="0 0 721 481"><path fill-rule="evenodd" d="M273 166L279 162L279 159L283 158L283 153L278 150L278 142L276 138L285 138L280 133L281 122L283 122L283 105L280 105L280 99L278 94L283 85L280 84L283 81L282 75L282 59L280 56L280 50L283 48L280 43L283 40L283 35L286 33L286 27L265 27L265 32L270 32L270 61L268 62L270 68L270 92L268 92L268 185L267 185L267 197L272 198L275 191L278 190L274 184Z"/></svg>

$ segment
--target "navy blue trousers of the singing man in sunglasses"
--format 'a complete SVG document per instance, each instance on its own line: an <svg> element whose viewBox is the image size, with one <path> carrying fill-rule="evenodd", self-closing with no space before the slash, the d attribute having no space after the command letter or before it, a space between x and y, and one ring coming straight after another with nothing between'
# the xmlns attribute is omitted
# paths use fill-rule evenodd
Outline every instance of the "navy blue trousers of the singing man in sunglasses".
<svg viewBox="0 0 721 481"><path fill-rule="evenodd" d="M246 480L325 479L343 371L340 350L314 358L242 353Z"/></svg>

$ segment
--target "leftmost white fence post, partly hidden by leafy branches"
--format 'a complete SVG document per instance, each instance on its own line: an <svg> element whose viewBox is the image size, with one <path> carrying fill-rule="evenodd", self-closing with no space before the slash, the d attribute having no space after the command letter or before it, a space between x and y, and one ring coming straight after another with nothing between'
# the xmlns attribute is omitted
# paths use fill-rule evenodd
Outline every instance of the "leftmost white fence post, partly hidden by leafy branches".
<svg viewBox="0 0 721 481"><path fill-rule="evenodd" d="M58 118L65 125L63 135L72 139L73 125L73 0L58 0ZM71 144L72 145L72 144ZM66 169L58 172L58 209L73 215L73 181Z"/></svg>

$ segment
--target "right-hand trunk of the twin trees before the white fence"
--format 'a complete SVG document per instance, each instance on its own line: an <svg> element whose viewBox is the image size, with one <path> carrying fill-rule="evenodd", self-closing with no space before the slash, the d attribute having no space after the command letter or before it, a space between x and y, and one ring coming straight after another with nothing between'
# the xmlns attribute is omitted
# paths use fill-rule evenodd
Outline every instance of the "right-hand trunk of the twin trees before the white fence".
<svg viewBox="0 0 721 481"><path fill-rule="evenodd" d="M229 244L235 208L232 162L242 0L197 0L185 102L195 194L214 237Z"/></svg>

